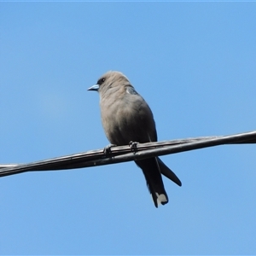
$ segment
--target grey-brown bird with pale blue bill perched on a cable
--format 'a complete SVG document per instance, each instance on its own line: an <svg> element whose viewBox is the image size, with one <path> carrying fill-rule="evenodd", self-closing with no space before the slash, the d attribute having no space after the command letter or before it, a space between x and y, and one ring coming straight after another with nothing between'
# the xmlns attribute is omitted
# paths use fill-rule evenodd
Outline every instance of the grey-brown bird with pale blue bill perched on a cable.
<svg viewBox="0 0 256 256"><path fill-rule="evenodd" d="M109 71L88 90L99 92L102 125L110 143L121 146L157 141L153 113L123 73ZM181 181L159 157L135 162L143 170L154 206L165 205L168 195L161 173L179 186Z"/></svg>

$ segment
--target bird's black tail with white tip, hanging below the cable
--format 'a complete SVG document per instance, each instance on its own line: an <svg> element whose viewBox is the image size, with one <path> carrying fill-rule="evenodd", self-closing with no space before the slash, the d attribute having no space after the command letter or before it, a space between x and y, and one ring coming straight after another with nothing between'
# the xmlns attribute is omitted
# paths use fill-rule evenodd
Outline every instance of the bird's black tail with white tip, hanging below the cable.
<svg viewBox="0 0 256 256"><path fill-rule="evenodd" d="M149 158L145 160L137 160L135 162L137 166L143 170L143 174L148 184L149 192L153 197L154 206L158 207L159 204L165 205L168 202L168 195L166 194L164 183L161 177L158 159Z"/></svg>

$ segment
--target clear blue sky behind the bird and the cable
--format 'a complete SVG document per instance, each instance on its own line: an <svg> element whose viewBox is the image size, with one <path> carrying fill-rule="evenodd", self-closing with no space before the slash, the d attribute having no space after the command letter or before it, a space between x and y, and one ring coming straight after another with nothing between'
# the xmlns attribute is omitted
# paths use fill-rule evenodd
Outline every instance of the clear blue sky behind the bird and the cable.
<svg viewBox="0 0 256 256"><path fill-rule="evenodd" d="M0 163L103 148L102 73L159 140L256 129L256 3L0 3ZM154 208L133 162L0 178L0 254L256 253L256 145L166 155Z"/></svg>

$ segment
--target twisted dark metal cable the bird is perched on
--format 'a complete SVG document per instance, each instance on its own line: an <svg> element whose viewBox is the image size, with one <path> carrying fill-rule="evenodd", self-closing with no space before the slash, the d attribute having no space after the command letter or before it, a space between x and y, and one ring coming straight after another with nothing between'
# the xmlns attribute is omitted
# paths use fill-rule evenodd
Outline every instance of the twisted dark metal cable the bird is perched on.
<svg viewBox="0 0 256 256"><path fill-rule="evenodd" d="M243 132L230 136L195 137L157 143L138 143L135 151L129 146L119 146L111 148L111 154L107 155L104 153L104 148L102 148L49 160L39 160L28 164L0 165L0 177L21 172L57 171L103 166L131 160L142 160L165 154L177 154L199 148L241 143L256 143L256 131Z"/></svg>

